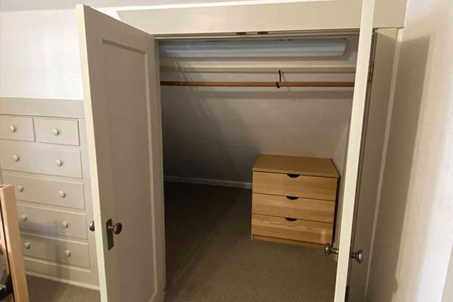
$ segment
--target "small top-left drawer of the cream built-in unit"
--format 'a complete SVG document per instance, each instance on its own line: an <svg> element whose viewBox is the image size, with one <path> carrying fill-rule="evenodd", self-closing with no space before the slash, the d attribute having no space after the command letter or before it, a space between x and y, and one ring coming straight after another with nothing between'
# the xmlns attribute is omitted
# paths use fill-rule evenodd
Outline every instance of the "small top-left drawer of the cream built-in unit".
<svg viewBox="0 0 453 302"><path fill-rule="evenodd" d="M0 116L0 138L34 141L33 119L30 117Z"/></svg>

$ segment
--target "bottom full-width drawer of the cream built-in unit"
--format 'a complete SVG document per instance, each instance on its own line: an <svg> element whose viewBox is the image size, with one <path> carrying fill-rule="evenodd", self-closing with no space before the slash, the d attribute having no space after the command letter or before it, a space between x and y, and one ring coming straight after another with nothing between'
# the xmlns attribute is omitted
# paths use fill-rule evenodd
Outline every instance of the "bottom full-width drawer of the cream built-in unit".
<svg viewBox="0 0 453 302"><path fill-rule="evenodd" d="M90 267L88 244L22 234L24 256Z"/></svg>

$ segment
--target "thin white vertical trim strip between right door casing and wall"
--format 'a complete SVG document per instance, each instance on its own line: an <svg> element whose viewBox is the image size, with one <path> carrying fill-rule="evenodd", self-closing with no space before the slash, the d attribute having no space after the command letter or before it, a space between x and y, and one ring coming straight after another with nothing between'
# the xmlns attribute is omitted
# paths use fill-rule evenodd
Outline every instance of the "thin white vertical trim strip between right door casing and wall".
<svg viewBox="0 0 453 302"><path fill-rule="evenodd" d="M403 33L402 30L398 30L397 42L395 45L395 56L393 58L390 98L389 98L389 105L387 106L388 109L387 109L386 130L385 130L385 134L384 134L384 143L383 143L383 148L382 148L381 167L380 167L380 171L379 171L378 192L376 194L376 205L374 208L374 217L373 217L373 229L372 229L372 233L371 233L371 244L369 247L369 260L368 260L368 268L367 268L366 281L365 281L365 298L368 293L369 273L371 270L371 262L373 260L372 257L373 257L373 249L374 249L374 237L376 235L376 226L378 225L379 207L381 204L382 183L383 183L383 179L384 179L384 170L385 170L385 166L386 166L387 148L389 145L390 124L392 121L393 103L395 100L396 77L397 77L397 73L398 73L398 62L400 59L400 52L401 52L402 33Z"/></svg>

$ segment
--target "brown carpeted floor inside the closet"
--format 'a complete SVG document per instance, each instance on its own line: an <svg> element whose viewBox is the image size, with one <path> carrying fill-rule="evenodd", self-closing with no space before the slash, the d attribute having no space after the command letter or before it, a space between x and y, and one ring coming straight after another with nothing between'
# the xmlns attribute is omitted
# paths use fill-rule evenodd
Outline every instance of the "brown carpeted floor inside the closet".
<svg viewBox="0 0 453 302"><path fill-rule="evenodd" d="M167 302L333 301L321 249L252 241L252 191L166 183Z"/></svg>

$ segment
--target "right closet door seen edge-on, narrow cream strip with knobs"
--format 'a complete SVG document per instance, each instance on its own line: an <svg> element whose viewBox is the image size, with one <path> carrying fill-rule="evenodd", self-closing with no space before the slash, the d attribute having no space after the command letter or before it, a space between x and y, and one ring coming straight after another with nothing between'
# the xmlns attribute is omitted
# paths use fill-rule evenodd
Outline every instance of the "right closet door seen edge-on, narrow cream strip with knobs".
<svg viewBox="0 0 453 302"><path fill-rule="evenodd" d="M357 66L346 155L346 170L344 175L343 208L341 209L340 243L338 247L337 276L335 282L335 302L344 302L346 293L360 142L365 109L369 56L371 51L373 13L374 0L362 0Z"/></svg>

